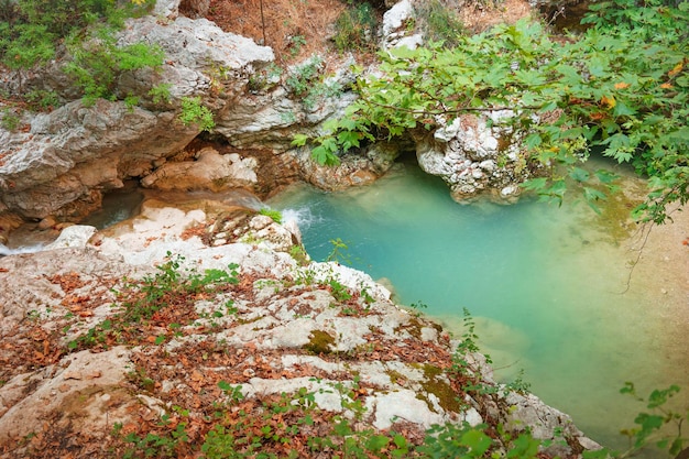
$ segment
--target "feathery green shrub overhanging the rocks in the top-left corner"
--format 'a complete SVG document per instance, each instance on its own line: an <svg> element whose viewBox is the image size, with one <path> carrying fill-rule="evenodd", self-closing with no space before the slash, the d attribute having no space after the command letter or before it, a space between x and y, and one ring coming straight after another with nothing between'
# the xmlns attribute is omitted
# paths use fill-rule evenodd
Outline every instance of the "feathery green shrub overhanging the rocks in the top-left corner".
<svg viewBox="0 0 689 459"><path fill-rule="evenodd" d="M160 48L143 43L118 47L113 37L125 18L147 11L153 3L152 0L139 6L111 0L18 0L9 7L13 14L0 15L0 63L18 73L23 92L23 70L62 57L58 51L66 43L72 56L65 72L75 78L85 100L114 98L117 78L122 73L162 64ZM39 101L46 109L54 107L57 98L30 101Z"/></svg>

